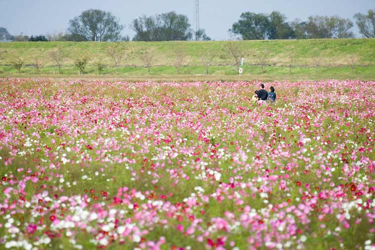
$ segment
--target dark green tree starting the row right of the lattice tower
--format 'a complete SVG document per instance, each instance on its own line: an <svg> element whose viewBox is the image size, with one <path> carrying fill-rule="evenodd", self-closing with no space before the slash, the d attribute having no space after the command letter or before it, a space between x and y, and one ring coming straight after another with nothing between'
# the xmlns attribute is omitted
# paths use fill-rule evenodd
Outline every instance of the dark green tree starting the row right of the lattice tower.
<svg viewBox="0 0 375 250"><path fill-rule="evenodd" d="M244 12L233 23L230 33L241 36L244 40L263 40L269 34L269 19L266 14Z"/></svg>

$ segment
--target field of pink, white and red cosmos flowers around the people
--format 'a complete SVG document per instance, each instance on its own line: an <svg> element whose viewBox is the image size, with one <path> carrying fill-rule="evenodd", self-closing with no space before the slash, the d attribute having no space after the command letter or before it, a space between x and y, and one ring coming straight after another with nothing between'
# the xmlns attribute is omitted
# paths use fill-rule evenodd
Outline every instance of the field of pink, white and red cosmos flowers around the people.
<svg viewBox="0 0 375 250"><path fill-rule="evenodd" d="M0 79L0 249L374 250L375 82Z"/></svg>

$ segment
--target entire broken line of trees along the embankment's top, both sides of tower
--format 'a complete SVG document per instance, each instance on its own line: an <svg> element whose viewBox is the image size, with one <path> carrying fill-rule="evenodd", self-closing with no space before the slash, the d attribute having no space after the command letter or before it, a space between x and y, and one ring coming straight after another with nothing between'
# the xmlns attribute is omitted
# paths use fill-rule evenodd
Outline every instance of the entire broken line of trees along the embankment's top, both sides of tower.
<svg viewBox="0 0 375 250"><path fill-rule="evenodd" d="M375 9L353 16L359 33L363 37L375 37ZM133 41L211 40L204 29L193 31L188 17L175 11L140 16L129 27L136 33ZM287 22L287 17L273 11L270 14L243 12L228 32L234 38L253 39L309 39L352 38L354 23L339 16L309 16L306 21L296 19ZM124 25L111 12L88 9L69 21L67 33L46 36L12 36L0 27L0 39L15 41L129 41L121 36Z"/></svg>

